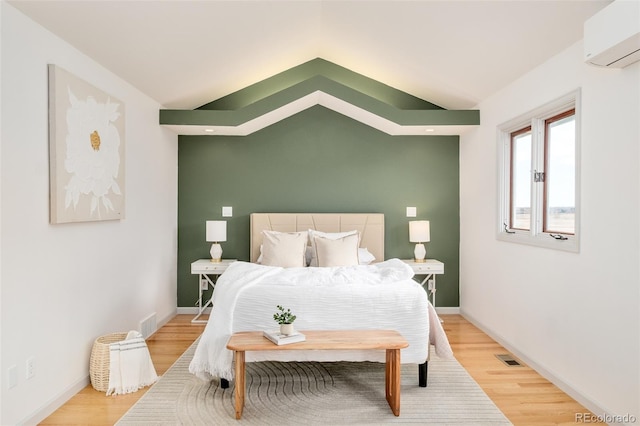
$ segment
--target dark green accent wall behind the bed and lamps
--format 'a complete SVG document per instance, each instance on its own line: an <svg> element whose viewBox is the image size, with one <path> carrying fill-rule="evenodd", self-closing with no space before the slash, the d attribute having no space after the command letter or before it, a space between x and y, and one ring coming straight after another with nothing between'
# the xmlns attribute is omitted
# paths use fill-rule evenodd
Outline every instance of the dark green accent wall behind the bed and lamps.
<svg viewBox="0 0 640 426"><path fill-rule="evenodd" d="M178 145L178 306L198 297L190 264L209 257L207 220L228 221L224 258L248 260L253 212L384 213L385 257L411 258L408 206L431 221L427 257L445 263L437 306L459 306L457 136L389 136L315 106L249 136Z"/></svg>

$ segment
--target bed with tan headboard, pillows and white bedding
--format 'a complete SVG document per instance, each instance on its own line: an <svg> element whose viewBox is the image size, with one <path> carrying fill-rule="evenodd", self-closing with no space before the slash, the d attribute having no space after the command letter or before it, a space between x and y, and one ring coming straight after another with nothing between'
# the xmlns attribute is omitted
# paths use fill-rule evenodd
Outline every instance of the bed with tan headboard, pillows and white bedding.
<svg viewBox="0 0 640 426"><path fill-rule="evenodd" d="M234 262L220 276L209 321L189 366L191 373L205 380L231 380L233 353L226 349L227 340L235 332L276 328L276 305L297 315L297 330L399 331L409 342L401 351L401 362L420 366L421 386L426 386L430 345L438 356L452 356L435 309L412 279L411 268L398 259L384 260L384 215L254 213L250 223L251 262ZM308 233L314 238L309 239ZM283 240L273 243L274 235ZM289 259L298 262L302 238L306 238L302 264L280 265ZM273 264L271 247L294 239L296 256L285 260L276 256ZM317 246L308 244L314 241ZM354 244L357 264L350 260L342 265L342 259L352 257ZM283 350L247 352L246 362L385 362L384 357L384 351Z"/></svg>

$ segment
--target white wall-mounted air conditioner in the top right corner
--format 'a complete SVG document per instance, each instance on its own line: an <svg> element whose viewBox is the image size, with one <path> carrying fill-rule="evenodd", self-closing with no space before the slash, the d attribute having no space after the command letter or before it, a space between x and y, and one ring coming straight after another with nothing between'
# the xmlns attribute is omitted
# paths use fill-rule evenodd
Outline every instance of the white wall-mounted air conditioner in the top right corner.
<svg viewBox="0 0 640 426"><path fill-rule="evenodd" d="M616 0L584 23L584 60L611 68L640 61L640 0Z"/></svg>

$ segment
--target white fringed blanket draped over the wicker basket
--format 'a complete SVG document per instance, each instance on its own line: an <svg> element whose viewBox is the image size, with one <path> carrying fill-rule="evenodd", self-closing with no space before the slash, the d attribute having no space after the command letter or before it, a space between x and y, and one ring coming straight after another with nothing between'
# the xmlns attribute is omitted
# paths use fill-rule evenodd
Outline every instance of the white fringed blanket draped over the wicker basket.
<svg viewBox="0 0 640 426"><path fill-rule="evenodd" d="M142 334L132 330L125 340L109 345L107 395L136 392L158 380L149 348Z"/></svg>

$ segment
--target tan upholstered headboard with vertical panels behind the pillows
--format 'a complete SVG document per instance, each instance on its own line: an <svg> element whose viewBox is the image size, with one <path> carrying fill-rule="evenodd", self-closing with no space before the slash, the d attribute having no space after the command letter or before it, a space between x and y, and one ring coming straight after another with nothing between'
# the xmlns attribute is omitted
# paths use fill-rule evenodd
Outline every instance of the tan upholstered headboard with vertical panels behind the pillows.
<svg viewBox="0 0 640 426"><path fill-rule="evenodd" d="M366 247L376 262L384 260L384 214L382 213L252 213L251 261L260 256L262 231L360 232L360 247Z"/></svg>

